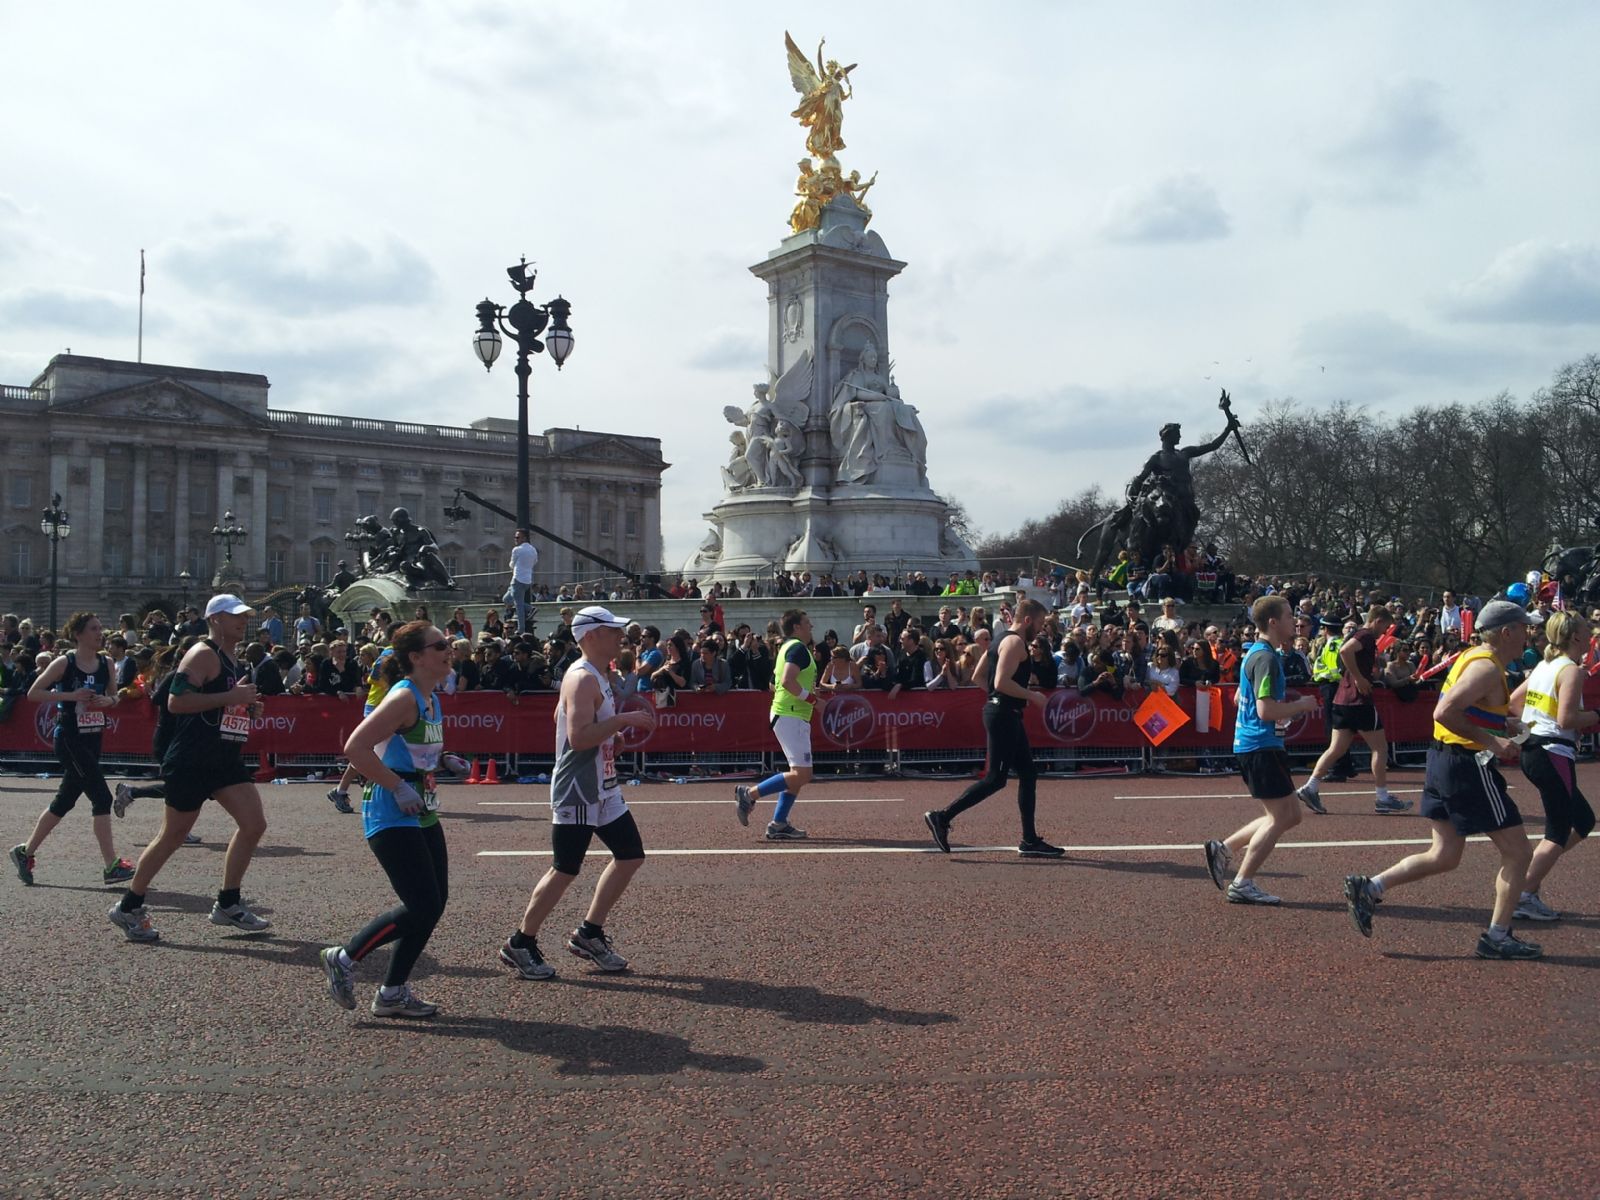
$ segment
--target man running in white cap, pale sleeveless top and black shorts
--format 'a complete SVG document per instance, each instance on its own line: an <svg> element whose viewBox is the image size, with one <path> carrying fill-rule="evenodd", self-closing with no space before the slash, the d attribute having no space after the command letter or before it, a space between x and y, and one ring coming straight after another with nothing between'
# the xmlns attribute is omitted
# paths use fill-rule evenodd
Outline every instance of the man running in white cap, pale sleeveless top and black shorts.
<svg viewBox="0 0 1600 1200"><path fill-rule="evenodd" d="M555 771L550 776L555 861L534 885L522 925L499 949L501 962L523 979L555 976L555 968L539 954L539 926L578 878L595 837L611 851L611 862L600 872L589 914L566 939L566 949L602 971L627 970L627 958L613 949L605 933L605 920L643 864L645 845L616 784L616 734L630 728L648 733L656 726L656 712L648 707L618 712L621 680L611 674L611 659L622 645L626 624L600 605L582 608L573 618L579 659L562 677L555 706Z"/></svg>

